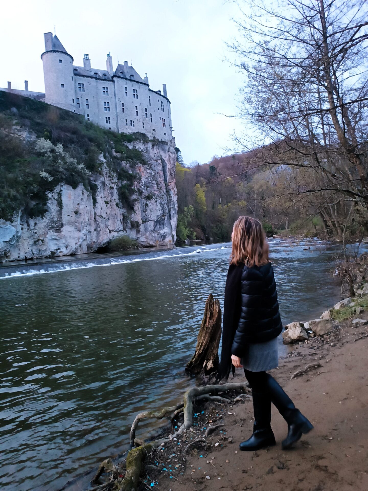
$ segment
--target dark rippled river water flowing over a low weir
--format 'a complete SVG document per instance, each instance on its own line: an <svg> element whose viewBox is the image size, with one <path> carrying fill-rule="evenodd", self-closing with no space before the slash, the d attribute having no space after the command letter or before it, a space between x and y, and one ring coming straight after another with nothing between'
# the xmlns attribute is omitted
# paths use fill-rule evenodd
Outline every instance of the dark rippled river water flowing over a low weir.
<svg viewBox="0 0 368 491"><path fill-rule="evenodd" d="M1 490L60 489L194 383L184 366L208 294L222 305L229 246L0 268ZM340 299L334 252L304 247L271 242L284 325Z"/></svg>

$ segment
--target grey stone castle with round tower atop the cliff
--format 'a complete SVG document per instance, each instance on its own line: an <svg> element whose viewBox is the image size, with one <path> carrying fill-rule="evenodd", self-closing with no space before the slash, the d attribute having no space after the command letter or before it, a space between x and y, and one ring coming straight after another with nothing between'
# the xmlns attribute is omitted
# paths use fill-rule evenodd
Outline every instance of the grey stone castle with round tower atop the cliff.
<svg viewBox="0 0 368 491"><path fill-rule="evenodd" d="M107 130L119 133L145 133L159 140L172 138L170 101L166 85L160 90L149 87L147 74L142 79L134 68L124 61L112 68L110 53L106 69L91 68L89 55L85 54L83 66L73 65L73 56L56 35L46 32L45 52L42 53L45 94L28 90L0 88L7 92L44 101L59 108L82 114Z"/></svg>

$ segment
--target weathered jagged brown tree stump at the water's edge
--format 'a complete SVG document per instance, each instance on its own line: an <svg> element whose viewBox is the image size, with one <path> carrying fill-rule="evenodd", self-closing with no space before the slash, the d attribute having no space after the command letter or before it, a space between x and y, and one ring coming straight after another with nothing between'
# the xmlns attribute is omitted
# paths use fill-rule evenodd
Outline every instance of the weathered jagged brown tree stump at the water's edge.
<svg viewBox="0 0 368 491"><path fill-rule="evenodd" d="M221 338L220 302L210 293L206 300L205 315L199 329L193 358L185 370L191 375L209 375L218 367L218 346Z"/></svg>

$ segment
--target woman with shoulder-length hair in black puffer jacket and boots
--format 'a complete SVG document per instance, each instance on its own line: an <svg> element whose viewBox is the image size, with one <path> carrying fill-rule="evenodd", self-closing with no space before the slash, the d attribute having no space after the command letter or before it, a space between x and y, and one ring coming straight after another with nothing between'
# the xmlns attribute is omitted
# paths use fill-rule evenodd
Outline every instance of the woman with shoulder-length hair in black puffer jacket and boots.
<svg viewBox="0 0 368 491"><path fill-rule="evenodd" d="M233 249L226 279L220 375L244 368L252 388L253 435L240 450L254 451L275 445L271 430L271 402L288 423L282 448L290 448L302 434L313 429L289 396L266 373L278 366L277 336L282 323L268 245L261 223L239 217L234 224Z"/></svg>

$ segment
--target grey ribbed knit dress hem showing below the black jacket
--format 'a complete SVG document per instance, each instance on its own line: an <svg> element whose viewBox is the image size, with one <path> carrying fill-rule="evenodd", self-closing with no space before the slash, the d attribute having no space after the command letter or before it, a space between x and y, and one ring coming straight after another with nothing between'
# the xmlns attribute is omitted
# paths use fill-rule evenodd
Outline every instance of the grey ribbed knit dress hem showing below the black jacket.
<svg viewBox="0 0 368 491"><path fill-rule="evenodd" d="M277 337L265 343L249 343L241 365L250 372L263 372L279 366Z"/></svg>

